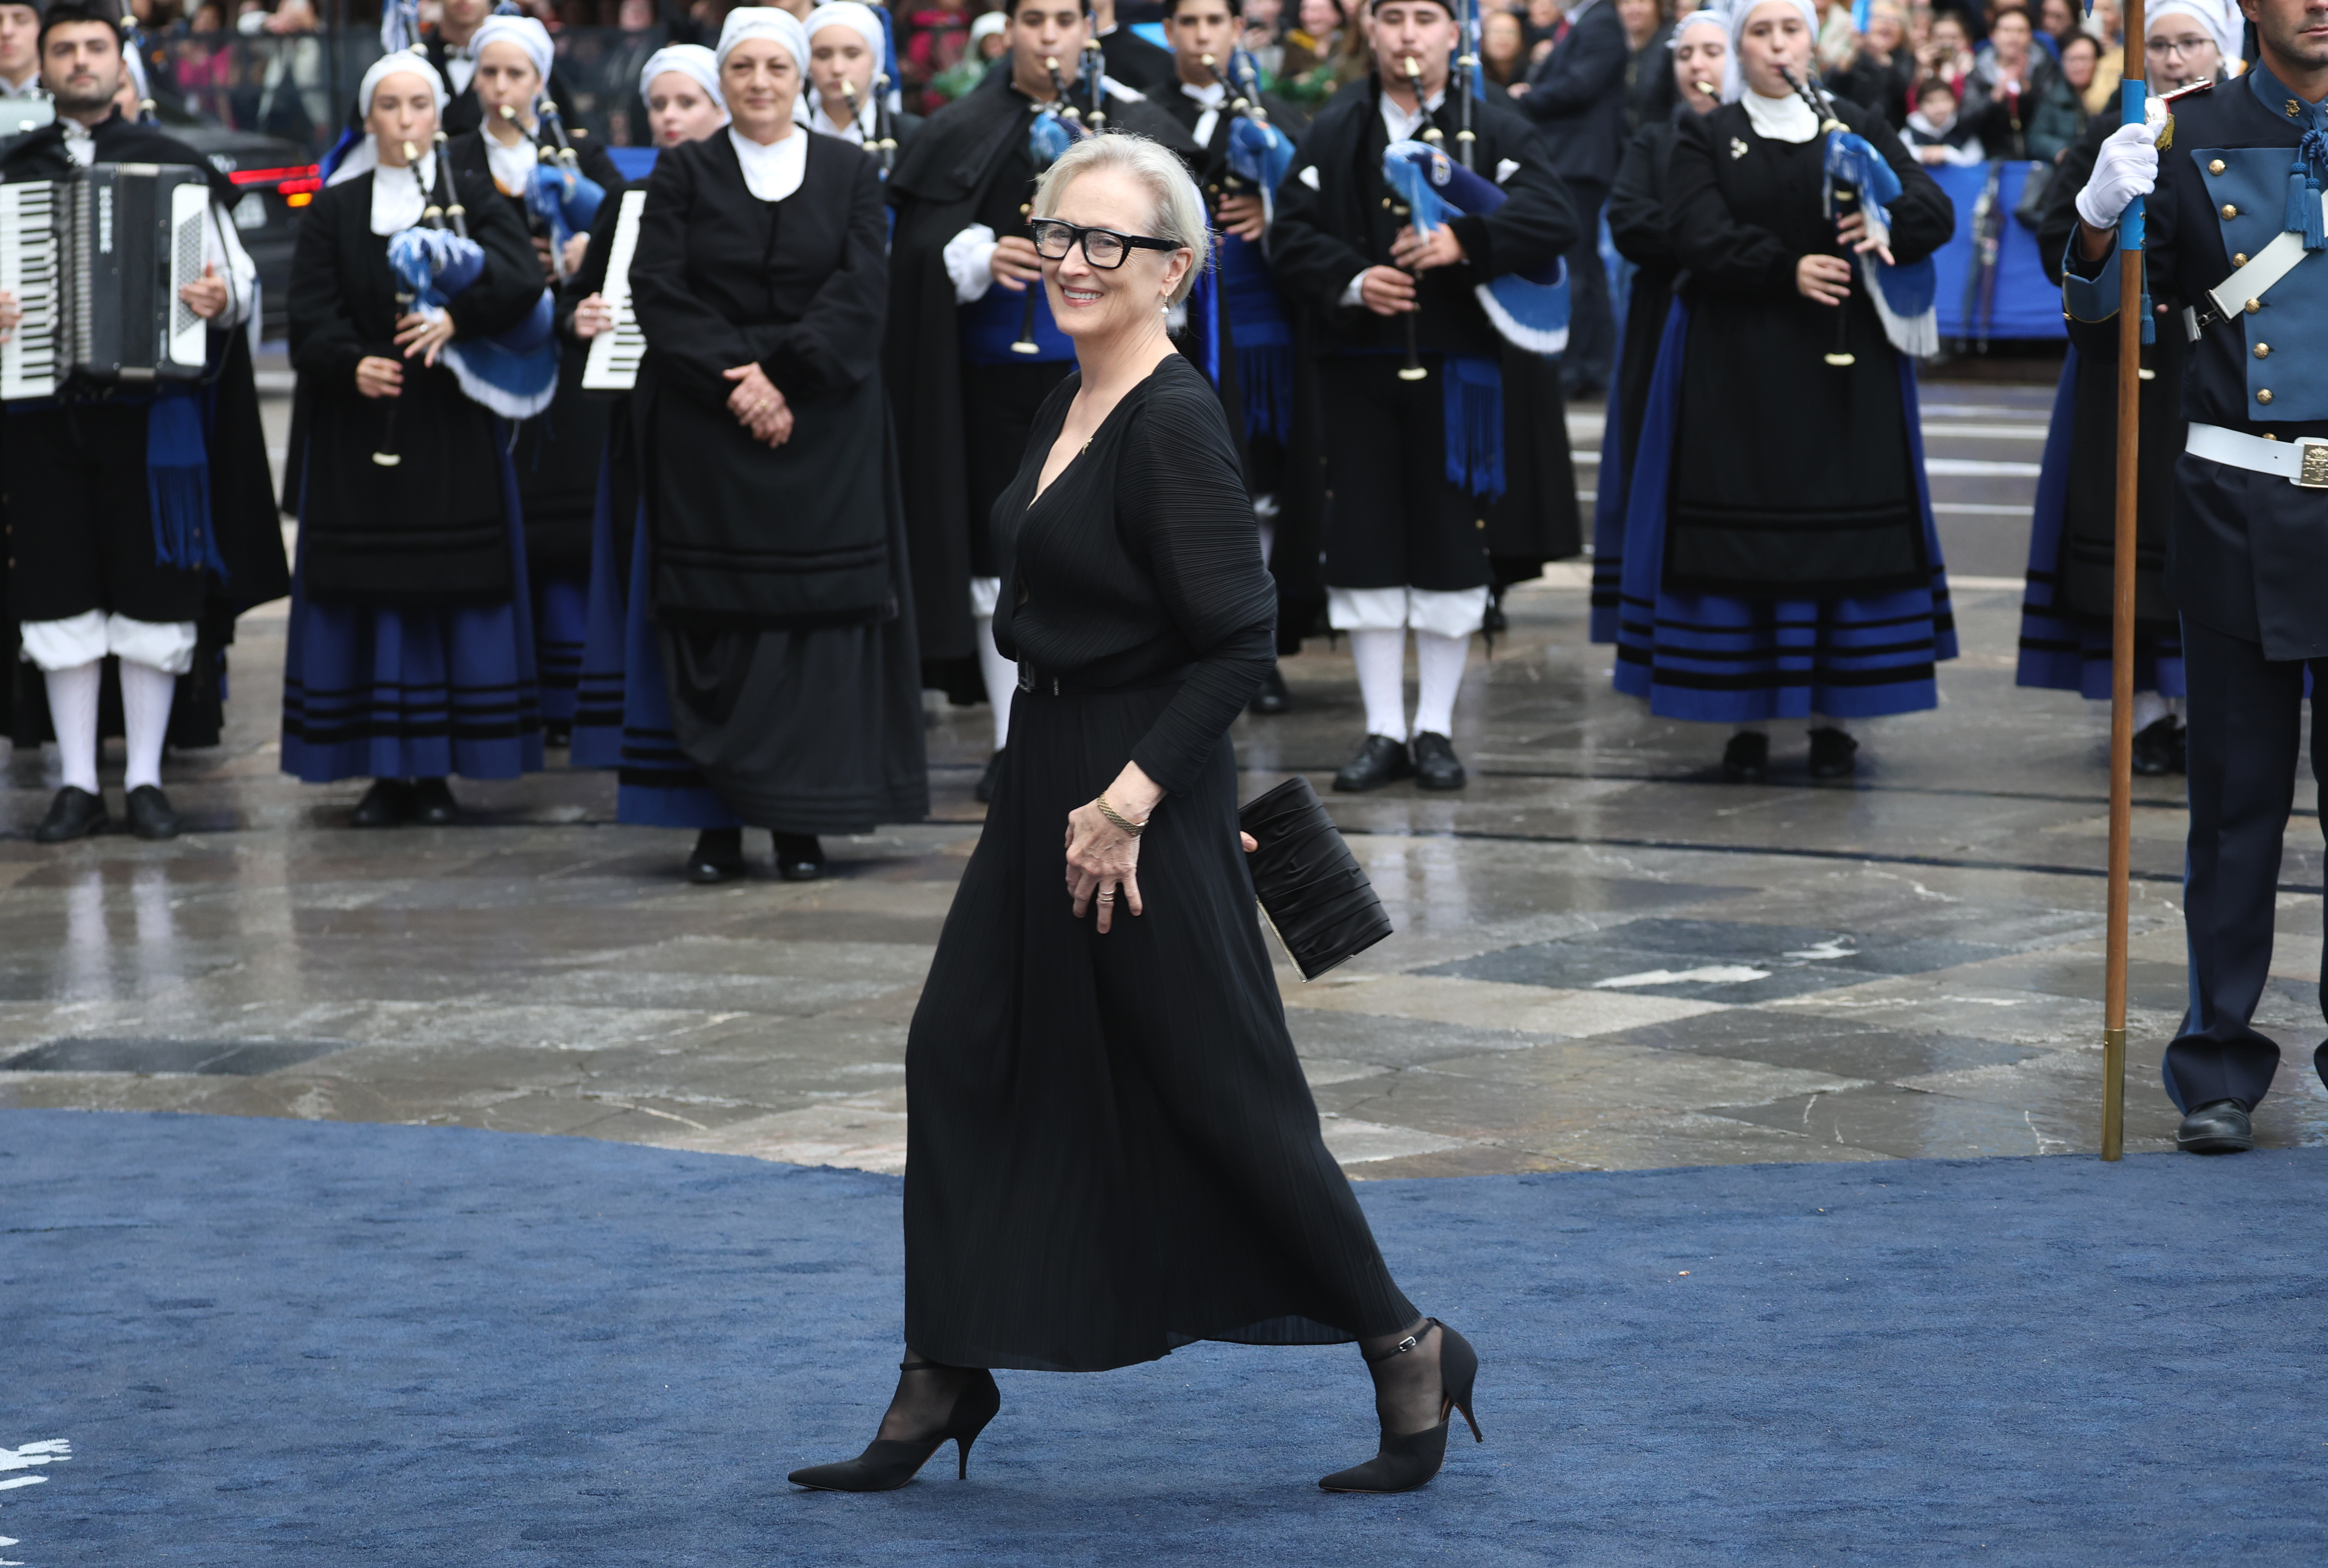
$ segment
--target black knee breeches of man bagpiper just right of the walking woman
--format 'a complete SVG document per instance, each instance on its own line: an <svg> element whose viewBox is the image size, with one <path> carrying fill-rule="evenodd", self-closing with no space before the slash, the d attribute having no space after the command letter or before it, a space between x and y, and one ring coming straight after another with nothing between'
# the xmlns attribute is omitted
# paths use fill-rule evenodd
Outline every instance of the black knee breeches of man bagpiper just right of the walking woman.
<svg viewBox="0 0 2328 1568"><path fill-rule="evenodd" d="M1325 579L1334 589L1483 589L1490 503L1448 484L1446 365L1401 382L1399 354L1336 354L1325 405ZM1492 505L1513 505L1506 491Z"/></svg>

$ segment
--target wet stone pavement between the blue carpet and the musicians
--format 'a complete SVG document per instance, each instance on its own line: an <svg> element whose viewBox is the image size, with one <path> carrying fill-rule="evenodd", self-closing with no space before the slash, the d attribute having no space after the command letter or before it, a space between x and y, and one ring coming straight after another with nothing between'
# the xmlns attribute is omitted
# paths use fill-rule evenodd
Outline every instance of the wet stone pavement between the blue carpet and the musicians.
<svg viewBox="0 0 2328 1568"><path fill-rule="evenodd" d="M1814 786L1609 691L1578 565L1474 656L1460 796L1334 798L1399 933L1304 984L1294 1040L1353 1175L2060 1154L2100 1117L2107 719L2014 689L2051 389L1925 393L1965 656L1935 714ZM1585 454L1590 409L1571 419ZM1592 468L1578 468L1592 484ZM282 607L247 616L228 737L172 756L170 844L30 842L54 761L0 789L0 1105L431 1121L896 1170L903 1038L978 835L985 710L931 730L929 824L833 840L836 875L677 879L687 835L612 821L612 775L456 784L459 828L361 833L361 782L277 772ZM1325 784L1360 735L1346 651L1285 661L1238 724L1248 793ZM5 744L5 742L0 742ZM119 791L119 751L107 782ZM119 796L116 796L119 798ZM2137 779L2128 1147L2172 1147L2179 779ZM2258 1024L2265 1145L2328 1142L2312 782ZM766 840L754 835L757 849Z"/></svg>

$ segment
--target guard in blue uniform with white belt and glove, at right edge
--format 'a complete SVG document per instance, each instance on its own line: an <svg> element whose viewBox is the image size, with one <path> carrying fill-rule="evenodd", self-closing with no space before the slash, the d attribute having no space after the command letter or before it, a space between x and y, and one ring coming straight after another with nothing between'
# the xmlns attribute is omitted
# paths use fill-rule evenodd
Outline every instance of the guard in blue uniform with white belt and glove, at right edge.
<svg viewBox="0 0 2328 1568"><path fill-rule="evenodd" d="M2251 1019L2272 961L2279 842L2295 796L2305 675L2328 677L2328 30L2316 0L2249 0L2260 60L2114 130L2079 195L2063 305L2116 363L2118 237L2146 195L2146 286L2191 347L2167 586L2191 686L2191 1005L2165 1089L2193 1154L2254 1147L2279 1068ZM2328 777L2328 730L2312 772ZM2328 1047L2314 1056L2328 1075Z"/></svg>

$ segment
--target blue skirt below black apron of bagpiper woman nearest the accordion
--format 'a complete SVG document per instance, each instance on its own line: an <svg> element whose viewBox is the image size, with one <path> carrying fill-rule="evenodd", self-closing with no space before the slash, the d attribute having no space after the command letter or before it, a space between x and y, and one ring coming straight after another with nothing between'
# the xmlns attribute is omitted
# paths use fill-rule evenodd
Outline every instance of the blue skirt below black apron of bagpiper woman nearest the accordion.
<svg viewBox="0 0 2328 1568"><path fill-rule="evenodd" d="M291 572L282 770L335 779L514 779L542 765L517 472L501 458L514 593L491 605L317 605Z"/></svg>

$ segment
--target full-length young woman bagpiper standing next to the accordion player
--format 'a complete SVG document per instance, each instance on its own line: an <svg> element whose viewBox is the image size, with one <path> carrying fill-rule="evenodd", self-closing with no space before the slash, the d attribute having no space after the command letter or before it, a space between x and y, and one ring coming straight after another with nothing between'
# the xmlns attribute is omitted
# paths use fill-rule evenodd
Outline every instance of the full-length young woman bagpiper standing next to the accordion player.
<svg viewBox="0 0 2328 1568"><path fill-rule="evenodd" d="M298 440L284 491L300 535L282 765L307 784L375 779L356 826L438 826L456 817L447 775L542 765L517 482L503 430L445 356L524 321L542 275L494 188L454 174L484 268L445 307L403 293L389 235L419 226L438 188L438 156L414 165L403 147L431 144L445 81L391 54L359 102L365 137L291 256Z"/></svg>

